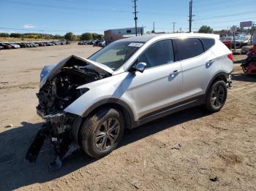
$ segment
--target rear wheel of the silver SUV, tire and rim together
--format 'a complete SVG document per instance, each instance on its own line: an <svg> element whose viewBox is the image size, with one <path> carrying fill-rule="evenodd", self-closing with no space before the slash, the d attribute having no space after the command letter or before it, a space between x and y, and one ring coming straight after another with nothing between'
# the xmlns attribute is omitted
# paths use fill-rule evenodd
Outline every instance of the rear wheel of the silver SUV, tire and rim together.
<svg viewBox="0 0 256 191"><path fill-rule="evenodd" d="M219 79L215 81L208 90L206 97L206 109L209 112L219 112L227 100L226 83Z"/></svg>

